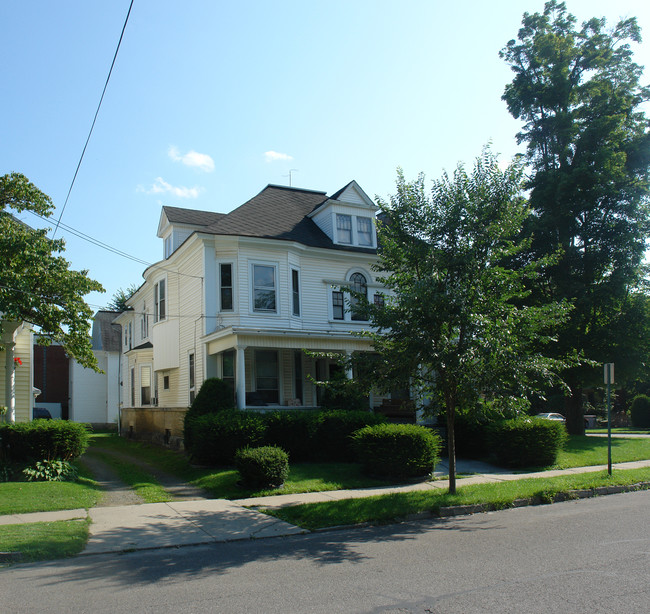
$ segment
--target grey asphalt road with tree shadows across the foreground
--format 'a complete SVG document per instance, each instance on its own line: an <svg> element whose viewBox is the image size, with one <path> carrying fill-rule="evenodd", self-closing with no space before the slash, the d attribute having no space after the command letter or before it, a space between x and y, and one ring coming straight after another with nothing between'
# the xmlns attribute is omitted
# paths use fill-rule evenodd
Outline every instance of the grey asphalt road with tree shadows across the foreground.
<svg viewBox="0 0 650 614"><path fill-rule="evenodd" d="M650 491L0 571L0 612L650 611Z"/></svg>

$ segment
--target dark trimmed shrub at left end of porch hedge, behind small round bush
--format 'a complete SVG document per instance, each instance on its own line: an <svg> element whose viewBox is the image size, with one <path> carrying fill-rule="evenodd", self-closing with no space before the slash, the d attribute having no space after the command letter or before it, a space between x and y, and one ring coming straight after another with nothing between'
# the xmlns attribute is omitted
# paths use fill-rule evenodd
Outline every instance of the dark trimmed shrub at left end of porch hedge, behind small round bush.
<svg viewBox="0 0 650 614"><path fill-rule="evenodd" d="M264 432L264 418L260 414L223 410L186 420L185 447L202 464L229 465L239 448L262 443Z"/></svg>

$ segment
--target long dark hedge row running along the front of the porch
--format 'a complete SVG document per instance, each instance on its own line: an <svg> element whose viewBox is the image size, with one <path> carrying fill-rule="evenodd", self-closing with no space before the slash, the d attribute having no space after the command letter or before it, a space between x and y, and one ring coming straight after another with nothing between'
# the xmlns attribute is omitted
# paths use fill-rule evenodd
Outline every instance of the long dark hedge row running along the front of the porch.
<svg viewBox="0 0 650 614"><path fill-rule="evenodd" d="M224 410L185 419L185 447L206 465L232 464L240 448L278 446L292 461L351 461L350 435L386 421L370 412Z"/></svg>

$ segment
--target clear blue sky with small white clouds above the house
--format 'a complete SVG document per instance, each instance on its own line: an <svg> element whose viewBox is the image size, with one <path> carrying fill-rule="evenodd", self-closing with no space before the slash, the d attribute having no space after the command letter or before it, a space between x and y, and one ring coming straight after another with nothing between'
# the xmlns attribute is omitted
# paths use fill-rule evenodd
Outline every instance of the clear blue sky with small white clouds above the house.
<svg viewBox="0 0 650 614"><path fill-rule="evenodd" d="M569 0L580 21L650 3ZM49 194L58 217L129 0L0 3L0 175ZM62 222L146 262L162 256L161 205L228 212L266 184L394 191L397 167L429 178L488 141L509 159L519 123L499 50L542 0L135 0ZM650 69L650 43L635 58ZM650 82L650 70L646 71ZM46 224L31 214L35 227ZM50 224L52 226L52 224ZM144 266L65 230L106 305Z"/></svg>

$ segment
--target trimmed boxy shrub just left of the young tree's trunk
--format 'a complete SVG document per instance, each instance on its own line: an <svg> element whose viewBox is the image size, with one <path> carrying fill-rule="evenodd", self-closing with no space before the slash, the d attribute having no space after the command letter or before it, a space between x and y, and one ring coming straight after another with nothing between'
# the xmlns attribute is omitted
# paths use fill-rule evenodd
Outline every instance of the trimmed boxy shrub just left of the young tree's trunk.
<svg viewBox="0 0 650 614"><path fill-rule="evenodd" d="M417 424L377 424L352 435L364 471L382 477L428 475L440 459L440 436Z"/></svg>

